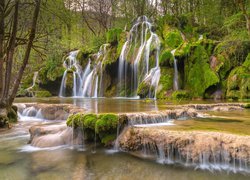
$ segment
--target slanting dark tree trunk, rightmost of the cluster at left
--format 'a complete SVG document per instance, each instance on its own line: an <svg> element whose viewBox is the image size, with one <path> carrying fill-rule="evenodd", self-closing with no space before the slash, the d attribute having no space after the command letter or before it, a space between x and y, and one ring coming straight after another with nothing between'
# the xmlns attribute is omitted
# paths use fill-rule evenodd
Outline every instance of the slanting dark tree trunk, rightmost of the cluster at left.
<svg viewBox="0 0 250 180"><path fill-rule="evenodd" d="M14 85L13 85L13 89L11 91L11 94L10 94L9 98L8 98L8 104L9 105L11 105L13 103L14 99L15 99L15 96L16 96L18 87L20 85L24 70L25 70L26 65L28 64L28 61L29 61L29 56L30 56L30 51L31 51L32 45L33 45L33 41L35 39L36 26L37 26L39 11L40 11L41 0L36 0L35 4L36 5L35 5L35 10L34 10L30 35L29 35L29 41L28 41L28 44L27 44L27 47L26 47L26 51L25 51L22 66L20 67L20 70L19 70L19 72L17 74L16 80L15 80Z"/></svg>

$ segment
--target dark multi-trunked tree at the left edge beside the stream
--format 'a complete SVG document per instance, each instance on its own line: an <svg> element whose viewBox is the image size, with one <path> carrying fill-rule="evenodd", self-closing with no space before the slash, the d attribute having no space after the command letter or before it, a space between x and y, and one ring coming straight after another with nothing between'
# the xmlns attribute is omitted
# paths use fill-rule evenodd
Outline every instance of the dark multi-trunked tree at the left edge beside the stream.
<svg viewBox="0 0 250 180"><path fill-rule="evenodd" d="M34 10L27 39L17 36L20 4L20 0L13 2L2 0L0 3L0 126L5 126L9 118L13 120L17 118L12 104L33 47L41 0L34 0L34 3L31 3ZM21 67L14 76L12 73L14 54L20 39L26 42L26 48Z"/></svg>

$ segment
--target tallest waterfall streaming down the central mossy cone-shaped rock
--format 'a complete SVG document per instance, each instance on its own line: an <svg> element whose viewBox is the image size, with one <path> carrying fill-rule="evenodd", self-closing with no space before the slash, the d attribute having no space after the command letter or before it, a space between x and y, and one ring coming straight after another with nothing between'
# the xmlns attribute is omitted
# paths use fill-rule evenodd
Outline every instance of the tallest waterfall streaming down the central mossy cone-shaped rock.
<svg viewBox="0 0 250 180"><path fill-rule="evenodd" d="M159 50L160 40L152 23L146 16L139 17L130 29L119 57L118 96L137 97L138 87L143 82L150 89L147 97L156 97L160 79Z"/></svg>

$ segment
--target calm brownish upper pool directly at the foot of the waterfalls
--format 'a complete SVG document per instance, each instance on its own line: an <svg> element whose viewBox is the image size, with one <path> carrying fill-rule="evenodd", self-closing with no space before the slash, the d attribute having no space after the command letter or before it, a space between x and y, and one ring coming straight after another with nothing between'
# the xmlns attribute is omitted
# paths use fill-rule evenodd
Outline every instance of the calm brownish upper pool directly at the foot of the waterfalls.
<svg viewBox="0 0 250 180"><path fill-rule="evenodd" d="M74 104L88 111L105 113L105 112L142 112L166 109L173 104L189 104L189 103L219 103L225 101L213 100L190 100L190 101L155 101L155 100L139 100L139 99L118 99L118 98L16 98L16 103L39 102L49 104Z"/></svg>

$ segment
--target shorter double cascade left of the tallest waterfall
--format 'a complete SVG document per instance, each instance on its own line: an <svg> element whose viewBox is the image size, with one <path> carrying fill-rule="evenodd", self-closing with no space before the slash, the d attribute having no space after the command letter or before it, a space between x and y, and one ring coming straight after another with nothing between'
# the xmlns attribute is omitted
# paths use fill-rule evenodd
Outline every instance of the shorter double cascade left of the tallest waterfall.
<svg viewBox="0 0 250 180"><path fill-rule="evenodd" d="M106 58L106 47L108 44L103 44L98 53L95 54L95 60L89 59L88 64L85 69L79 65L76 59L78 51L72 51L69 56L64 61L64 71L61 88L60 97L67 96L67 78L69 73L72 73L73 78L73 88L71 96L73 97L99 97L103 95L103 67L102 61ZM94 64L95 63L95 64Z"/></svg>

